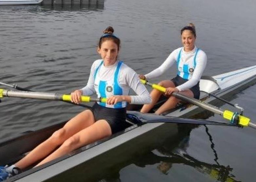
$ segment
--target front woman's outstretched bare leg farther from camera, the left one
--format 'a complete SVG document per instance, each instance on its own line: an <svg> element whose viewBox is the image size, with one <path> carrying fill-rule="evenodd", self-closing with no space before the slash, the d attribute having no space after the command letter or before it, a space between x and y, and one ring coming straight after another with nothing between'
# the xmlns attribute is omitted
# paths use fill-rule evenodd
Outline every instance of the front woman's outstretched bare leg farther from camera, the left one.
<svg viewBox="0 0 256 182"><path fill-rule="evenodd" d="M27 156L18 161L15 166L24 169L38 160L49 155L56 147L60 146L66 139L94 123L91 110L85 110L70 119L63 128L54 132L51 137L38 145Z"/></svg>

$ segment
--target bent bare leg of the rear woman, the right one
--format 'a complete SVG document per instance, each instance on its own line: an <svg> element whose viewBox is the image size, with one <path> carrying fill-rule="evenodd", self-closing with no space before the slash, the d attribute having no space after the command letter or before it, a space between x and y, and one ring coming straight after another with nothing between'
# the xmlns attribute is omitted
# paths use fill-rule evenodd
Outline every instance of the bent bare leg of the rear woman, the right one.
<svg viewBox="0 0 256 182"><path fill-rule="evenodd" d="M186 96L194 97L194 94L191 90L185 90L185 91L181 91L179 93L186 95ZM161 107L159 107L155 111L155 114L159 115L159 114L162 114L162 113L174 108L179 101L180 101L179 99L175 98L174 96L171 96L163 105L161 105Z"/></svg>

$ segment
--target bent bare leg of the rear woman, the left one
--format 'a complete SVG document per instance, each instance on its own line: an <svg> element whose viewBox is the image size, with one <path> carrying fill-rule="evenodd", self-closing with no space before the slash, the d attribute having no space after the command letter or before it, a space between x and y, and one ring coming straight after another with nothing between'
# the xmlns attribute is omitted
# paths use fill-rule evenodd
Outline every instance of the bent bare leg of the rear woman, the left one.
<svg viewBox="0 0 256 182"><path fill-rule="evenodd" d="M158 85L163 86L163 87L175 87L174 83L171 80L164 80L158 83ZM164 93L153 89L152 92L150 93L151 97L152 97L152 102L151 104L144 104L143 107L141 108L140 112L141 113L148 113L156 104L156 102L159 100L159 98L161 97L161 95L163 95Z"/></svg>

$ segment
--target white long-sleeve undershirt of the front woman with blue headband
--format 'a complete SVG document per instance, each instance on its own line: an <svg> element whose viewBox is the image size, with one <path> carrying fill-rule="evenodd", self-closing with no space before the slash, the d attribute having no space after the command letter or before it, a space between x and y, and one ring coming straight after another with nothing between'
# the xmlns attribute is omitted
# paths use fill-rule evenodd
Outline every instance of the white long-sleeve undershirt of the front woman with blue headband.
<svg viewBox="0 0 256 182"><path fill-rule="evenodd" d="M87 85L83 87L82 95L93 95L96 94L95 90L95 80L94 75L96 69L101 64L102 60L96 60L91 67L90 76L87 82ZM107 81L109 79L113 79L118 61L110 66L104 66L102 64L97 72L98 76L102 81ZM146 87L140 82L137 73L127 66L126 64L122 64L120 67L119 75L118 75L119 85L123 89L123 95L128 95L130 88L135 91L137 96L130 96L131 103L133 104L148 104L151 103L152 99L151 96L146 89ZM97 85L96 85L97 86ZM98 97L100 97L98 95Z"/></svg>

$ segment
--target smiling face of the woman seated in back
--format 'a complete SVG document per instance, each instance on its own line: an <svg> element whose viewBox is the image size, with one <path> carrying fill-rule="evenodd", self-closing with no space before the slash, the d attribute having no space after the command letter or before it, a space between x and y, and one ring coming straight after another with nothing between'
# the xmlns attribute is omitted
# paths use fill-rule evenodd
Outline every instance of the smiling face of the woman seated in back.
<svg viewBox="0 0 256 182"><path fill-rule="evenodd" d="M195 46L195 36L190 30L184 30L181 34L181 42L185 51L193 50Z"/></svg>

